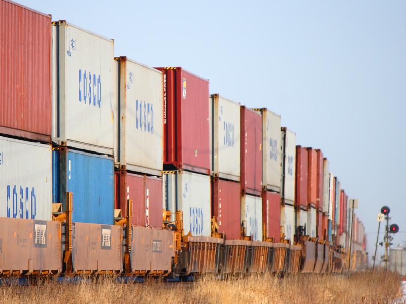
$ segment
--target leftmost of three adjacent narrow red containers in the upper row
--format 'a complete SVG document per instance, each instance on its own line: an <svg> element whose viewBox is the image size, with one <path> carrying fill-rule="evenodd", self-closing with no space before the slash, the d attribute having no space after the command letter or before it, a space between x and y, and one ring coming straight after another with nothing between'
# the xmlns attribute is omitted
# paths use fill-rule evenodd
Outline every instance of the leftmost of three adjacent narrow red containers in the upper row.
<svg viewBox="0 0 406 304"><path fill-rule="evenodd" d="M307 210L308 206L308 153L306 148L296 146L296 206Z"/></svg>

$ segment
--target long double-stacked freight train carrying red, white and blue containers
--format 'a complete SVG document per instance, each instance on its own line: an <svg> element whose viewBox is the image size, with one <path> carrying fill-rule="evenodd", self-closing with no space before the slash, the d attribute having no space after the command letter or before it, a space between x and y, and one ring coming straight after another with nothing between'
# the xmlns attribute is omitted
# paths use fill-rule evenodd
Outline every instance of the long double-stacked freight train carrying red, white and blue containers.
<svg viewBox="0 0 406 304"><path fill-rule="evenodd" d="M279 115L9 0L0 14L2 276L366 269L339 179Z"/></svg>

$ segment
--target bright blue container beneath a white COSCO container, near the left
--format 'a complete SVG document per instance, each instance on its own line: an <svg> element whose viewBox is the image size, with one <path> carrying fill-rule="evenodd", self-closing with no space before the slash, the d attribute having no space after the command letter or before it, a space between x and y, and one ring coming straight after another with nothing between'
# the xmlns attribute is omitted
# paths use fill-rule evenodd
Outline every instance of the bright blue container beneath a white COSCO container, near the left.
<svg viewBox="0 0 406 304"><path fill-rule="evenodd" d="M59 164L59 166L58 166ZM113 224L114 162L113 158L67 148L53 155L52 170L59 188L53 197L65 211L67 191L73 193L72 221Z"/></svg>

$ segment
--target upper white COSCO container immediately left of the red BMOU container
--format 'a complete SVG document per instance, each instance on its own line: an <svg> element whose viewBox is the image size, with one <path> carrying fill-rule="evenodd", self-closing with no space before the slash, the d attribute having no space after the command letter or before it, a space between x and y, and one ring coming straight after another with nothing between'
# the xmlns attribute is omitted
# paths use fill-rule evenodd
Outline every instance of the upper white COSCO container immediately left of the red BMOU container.
<svg viewBox="0 0 406 304"><path fill-rule="evenodd" d="M163 168L162 72L126 57L118 62L118 134L121 169L161 176Z"/></svg>

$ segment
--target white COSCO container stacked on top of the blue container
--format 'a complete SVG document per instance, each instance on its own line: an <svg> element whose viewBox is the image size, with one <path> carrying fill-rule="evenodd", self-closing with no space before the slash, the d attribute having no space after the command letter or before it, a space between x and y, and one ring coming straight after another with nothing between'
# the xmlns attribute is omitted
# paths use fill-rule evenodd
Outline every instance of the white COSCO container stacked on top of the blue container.
<svg viewBox="0 0 406 304"><path fill-rule="evenodd" d="M114 155L114 42L66 21L53 31L53 141Z"/></svg>

